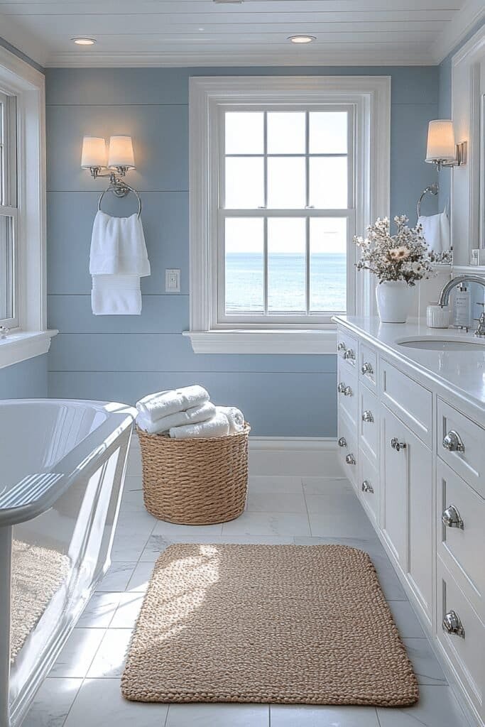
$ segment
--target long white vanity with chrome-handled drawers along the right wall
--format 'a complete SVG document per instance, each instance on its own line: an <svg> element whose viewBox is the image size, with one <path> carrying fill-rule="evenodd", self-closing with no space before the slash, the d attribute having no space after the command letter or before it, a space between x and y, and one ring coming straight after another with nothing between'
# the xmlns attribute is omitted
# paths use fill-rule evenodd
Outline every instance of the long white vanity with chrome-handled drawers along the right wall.
<svg viewBox="0 0 485 727"><path fill-rule="evenodd" d="M382 326L357 320L337 318L342 469L472 724L484 727L485 406L435 380L439 361L421 371L380 340Z"/></svg>

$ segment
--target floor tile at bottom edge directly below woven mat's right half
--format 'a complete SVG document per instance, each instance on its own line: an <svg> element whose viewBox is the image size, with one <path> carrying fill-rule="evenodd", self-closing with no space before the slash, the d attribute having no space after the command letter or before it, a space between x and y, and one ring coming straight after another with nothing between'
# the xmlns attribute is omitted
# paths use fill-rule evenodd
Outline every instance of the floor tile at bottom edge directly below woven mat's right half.
<svg viewBox="0 0 485 727"><path fill-rule="evenodd" d="M271 727L379 727L374 707L271 704Z"/></svg>

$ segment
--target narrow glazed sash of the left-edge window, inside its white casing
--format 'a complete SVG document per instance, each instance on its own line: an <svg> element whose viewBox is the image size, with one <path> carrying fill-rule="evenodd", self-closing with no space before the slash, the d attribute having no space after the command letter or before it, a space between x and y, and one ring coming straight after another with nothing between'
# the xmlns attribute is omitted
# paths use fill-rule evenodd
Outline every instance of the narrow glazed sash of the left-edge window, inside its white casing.
<svg viewBox="0 0 485 727"><path fill-rule="evenodd" d="M17 326L17 125L15 96L0 92L0 325Z"/></svg>

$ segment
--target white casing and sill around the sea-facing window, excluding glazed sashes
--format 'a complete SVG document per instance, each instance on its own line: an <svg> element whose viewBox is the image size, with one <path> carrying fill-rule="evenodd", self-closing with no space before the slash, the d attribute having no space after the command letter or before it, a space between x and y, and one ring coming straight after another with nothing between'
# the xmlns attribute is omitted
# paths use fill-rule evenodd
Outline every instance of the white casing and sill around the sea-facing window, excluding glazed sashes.
<svg viewBox="0 0 485 727"><path fill-rule="evenodd" d="M217 224L221 153L218 119L228 105L353 105L355 229L364 232L389 214L389 76L220 76L191 78L190 134L190 295L191 324L185 332L196 353L334 353L334 324L221 328L217 323ZM351 258L350 258L351 260ZM348 285L354 310L374 311L366 273L355 275L349 260Z"/></svg>

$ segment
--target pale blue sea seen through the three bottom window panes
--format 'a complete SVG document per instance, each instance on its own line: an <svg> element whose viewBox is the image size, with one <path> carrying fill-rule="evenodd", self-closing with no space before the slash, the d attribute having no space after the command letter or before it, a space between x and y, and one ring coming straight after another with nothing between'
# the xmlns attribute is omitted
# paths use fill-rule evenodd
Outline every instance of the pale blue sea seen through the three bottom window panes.
<svg viewBox="0 0 485 727"><path fill-rule="evenodd" d="M310 310L345 310L346 255L310 255ZM262 254L228 253L225 256L225 310L256 313L264 308ZM268 310L305 310L305 256L268 255Z"/></svg>

